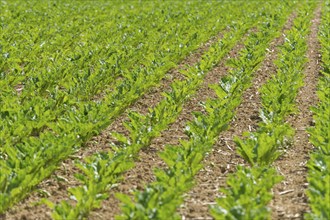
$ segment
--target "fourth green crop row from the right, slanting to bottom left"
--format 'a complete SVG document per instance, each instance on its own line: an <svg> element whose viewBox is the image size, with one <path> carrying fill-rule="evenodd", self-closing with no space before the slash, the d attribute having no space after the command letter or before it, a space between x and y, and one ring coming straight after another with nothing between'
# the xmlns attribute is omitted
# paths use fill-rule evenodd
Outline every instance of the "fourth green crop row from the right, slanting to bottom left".
<svg viewBox="0 0 330 220"><path fill-rule="evenodd" d="M256 22L256 12L250 7L249 14L239 15L240 20L232 24L223 38L212 44L196 64L182 70L186 80L174 81L171 91L164 93L164 99L154 108L149 109L146 115L129 112L129 121L124 125L129 136L113 132L112 135L121 143L112 147L112 153L98 153L86 158L85 163L78 162L77 167L83 174L77 175L83 185L69 189L70 198L76 204L70 205L62 201L55 206L45 201L54 209L53 218L79 219L86 217L90 210L100 206L100 202L107 198L107 191L117 184L122 174L134 166L134 159L141 148L148 147L150 141L159 136L170 123L173 123L180 114L187 99L193 96L203 82L207 72L215 66ZM260 18L259 18L260 19Z"/></svg>

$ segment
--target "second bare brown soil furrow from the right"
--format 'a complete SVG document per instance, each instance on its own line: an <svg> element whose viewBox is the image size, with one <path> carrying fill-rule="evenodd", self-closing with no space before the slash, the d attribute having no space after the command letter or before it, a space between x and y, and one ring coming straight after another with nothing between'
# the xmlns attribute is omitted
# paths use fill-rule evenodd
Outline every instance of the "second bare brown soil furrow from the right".
<svg viewBox="0 0 330 220"><path fill-rule="evenodd" d="M292 14L282 31L290 29L294 18L295 14ZM219 189L226 187L227 175L235 172L237 165L244 163L236 153L233 138L241 137L244 131L254 131L257 128L261 107L258 90L276 73L273 61L277 57L277 46L283 42L284 36L279 36L270 43L265 60L255 72L252 86L244 92L230 128L220 134L213 150L204 160L204 169L196 176L196 186L186 195L185 203L180 209L182 219L212 219L209 206L215 204L215 199L221 195Z"/></svg>

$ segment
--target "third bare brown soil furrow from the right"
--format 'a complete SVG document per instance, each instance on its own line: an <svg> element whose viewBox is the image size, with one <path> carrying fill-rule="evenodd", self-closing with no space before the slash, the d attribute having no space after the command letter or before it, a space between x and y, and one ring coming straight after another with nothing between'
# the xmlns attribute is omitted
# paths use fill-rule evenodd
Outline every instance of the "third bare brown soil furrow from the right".
<svg viewBox="0 0 330 220"><path fill-rule="evenodd" d="M242 39L245 39L245 37ZM191 113L193 111L203 111L199 103L209 97L215 97L213 90L208 85L218 82L219 78L228 71L228 68L224 65L225 62L230 57L237 56L241 48L242 44L237 44L228 54L227 58L223 59L218 66L205 76L202 86L194 97L185 103L176 122L171 124L167 130L163 131L159 137L152 140L148 148L140 151L135 167L126 173L124 181L118 186L118 189L111 192L110 198L105 201L105 205L100 210L91 213L91 219L113 219L120 212L120 201L114 195L116 192L131 194L133 190L142 190L146 183L154 180L153 169L156 167L165 167L165 164L158 157L157 153L162 151L167 144L176 145L179 143L179 140L187 139L184 128L186 122L192 119Z"/></svg>

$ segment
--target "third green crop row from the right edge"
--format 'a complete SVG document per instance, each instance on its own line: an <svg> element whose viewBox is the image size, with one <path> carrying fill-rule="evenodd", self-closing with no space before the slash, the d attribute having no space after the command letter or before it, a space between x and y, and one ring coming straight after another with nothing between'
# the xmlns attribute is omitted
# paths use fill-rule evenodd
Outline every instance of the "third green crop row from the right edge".
<svg viewBox="0 0 330 220"><path fill-rule="evenodd" d="M267 12L276 3L267 4ZM183 202L183 194L194 184L194 176L203 167L202 160L219 135L228 128L236 107L241 102L242 93L251 84L253 72L265 57L268 43L278 34L289 10L277 11L273 17L264 14L257 25L259 32L252 33L245 42L237 59L232 59L233 70L212 85L216 99L205 102L206 114L194 113L194 121L187 123L188 141L179 146L167 146L159 155L167 164L166 169L156 169L156 181L148 184L144 191L136 191L134 198L119 194L122 214L117 219L179 219L177 208ZM272 28L269 28L272 27ZM270 175L270 174L269 174Z"/></svg>

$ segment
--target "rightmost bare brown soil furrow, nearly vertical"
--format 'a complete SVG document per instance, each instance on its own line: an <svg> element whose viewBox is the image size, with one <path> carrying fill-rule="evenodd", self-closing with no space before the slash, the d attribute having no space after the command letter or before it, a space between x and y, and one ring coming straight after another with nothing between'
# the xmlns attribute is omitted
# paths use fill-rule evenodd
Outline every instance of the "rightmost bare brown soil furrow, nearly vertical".
<svg viewBox="0 0 330 220"><path fill-rule="evenodd" d="M313 114L310 107L316 105L316 85L320 72L320 44L317 40L320 24L321 8L315 11L311 21L311 33L308 37L308 63L305 67L304 86L296 99L298 113L290 116L288 122L295 128L293 145L275 162L275 167L285 179L274 189L274 199L270 207L273 209L273 219L302 219L309 210L305 190L307 183L306 163L313 149L309 142L306 128L313 125Z"/></svg>

